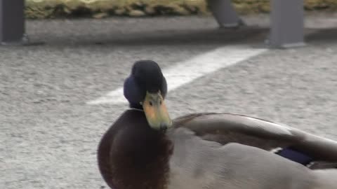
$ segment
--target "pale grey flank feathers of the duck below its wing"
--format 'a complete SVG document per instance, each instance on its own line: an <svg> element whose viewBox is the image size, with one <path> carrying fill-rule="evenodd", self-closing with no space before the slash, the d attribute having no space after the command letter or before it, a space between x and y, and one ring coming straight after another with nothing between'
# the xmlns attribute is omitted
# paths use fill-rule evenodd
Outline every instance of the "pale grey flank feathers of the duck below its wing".
<svg viewBox="0 0 337 189"><path fill-rule="evenodd" d="M174 150L169 189L310 189L315 176L306 167L260 148L221 146L185 128L171 130ZM296 183L296 185L294 185Z"/></svg>

